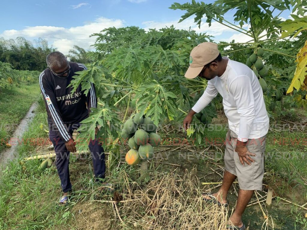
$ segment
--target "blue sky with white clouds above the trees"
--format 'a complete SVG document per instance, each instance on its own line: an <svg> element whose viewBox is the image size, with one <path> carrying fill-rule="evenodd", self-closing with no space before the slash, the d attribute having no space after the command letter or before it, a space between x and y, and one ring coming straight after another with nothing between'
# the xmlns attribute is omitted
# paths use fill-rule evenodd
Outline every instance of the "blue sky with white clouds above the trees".
<svg viewBox="0 0 307 230"><path fill-rule="evenodd" d="M92 33L115 26L136 25L144 29L160 29L175 24L178 29L191 26L197 32L207 32L216 37L216 41L246 41L248 38L220 25L201 25L198 29L193 19L177 24L181 10L168 9L173 2L185 3L189 0L26 0L2 1L0 13L0 37L16 38L24 36L28 40L43 37L49 45L67 54L73 45L90 48L95 38ZM204 1L210 3L213 1ZM4 10L5 9L5 10ZM281 15L288 18L289 12ZM225 15L232 21L232 14ZM205 20L204 20L205 21ZM248 25L245 25L247 28Z"/></svg>

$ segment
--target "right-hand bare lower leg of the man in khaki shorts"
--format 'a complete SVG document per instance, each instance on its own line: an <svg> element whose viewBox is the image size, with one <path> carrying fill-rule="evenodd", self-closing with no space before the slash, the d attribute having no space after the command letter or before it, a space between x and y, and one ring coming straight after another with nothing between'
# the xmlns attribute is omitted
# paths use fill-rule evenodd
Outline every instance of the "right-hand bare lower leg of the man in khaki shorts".
<svg viewBox="0 0 307 230"><path fill-rule="evenodd" d="M233 225L238 226L239 228L243 226L241 218L253 194L254 190L239 190L237 206L229 219Z"/></svg>

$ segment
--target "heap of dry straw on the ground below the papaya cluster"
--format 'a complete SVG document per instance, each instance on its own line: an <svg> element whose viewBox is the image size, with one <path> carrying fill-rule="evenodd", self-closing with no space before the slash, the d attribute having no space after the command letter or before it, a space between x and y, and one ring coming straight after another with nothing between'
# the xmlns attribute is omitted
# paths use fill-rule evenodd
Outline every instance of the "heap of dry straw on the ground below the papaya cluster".
<svg viewBox="0 0 307 230"><path fill-rule="evenodd" d="M195 172L186 171L183 177L175 173L153 172L150 173L151 181L141 188L121 171L119 186L124 188L123 201L127 201L118 204L121 227L154 230L225 229L225 210L202 200Z"/></svg>

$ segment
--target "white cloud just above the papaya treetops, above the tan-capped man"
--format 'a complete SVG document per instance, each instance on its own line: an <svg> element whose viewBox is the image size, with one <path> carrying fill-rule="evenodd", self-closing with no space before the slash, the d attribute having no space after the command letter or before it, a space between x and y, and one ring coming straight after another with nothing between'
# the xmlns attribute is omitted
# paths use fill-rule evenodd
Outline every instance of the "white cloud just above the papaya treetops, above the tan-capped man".
<svg viewBox="0 0 307 230"><path fill-rule="evenodd" d="M179 21L179 20L178 20ZM144 25L145 30L149 29L161 29L165 26L170 27L171 25L174 25L176 29L189 29L191 27L192 30L195 30L197 33L208 33L208 35L212 36L219 36L224 32L233 32L234 30L220 24L219 22L213 21L211 26L209 27L209 24L206 22L202 22L200 24L200 28L198 28L198 25L194 22L194 19L188 18L181 23L178 23L178 21L169 21L169 22L158 22L158 21L144 21L142 24ZM244 25L243 28L247 27L247 25Z"/></svg>

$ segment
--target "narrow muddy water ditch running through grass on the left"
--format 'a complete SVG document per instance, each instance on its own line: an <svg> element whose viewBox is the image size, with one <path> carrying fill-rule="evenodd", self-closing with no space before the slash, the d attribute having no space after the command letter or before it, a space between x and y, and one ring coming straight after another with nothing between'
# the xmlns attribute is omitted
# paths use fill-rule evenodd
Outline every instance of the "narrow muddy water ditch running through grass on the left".
<svg viewBox="0 0 307 230"><path fill-rule="evenodd" d="M28 129L29 123L33 120L33 117L35 115L34 110L36 109L36 107L37 103L33 103L33 105L31 105L28 113L25 115L25 117L21 120L20 124L16 128L9 141L12 147L6 148L0 153L0 169L5 168L6 164L12 161L17 156L18 153L16 148L22 138L22 134Z"/></svg>

